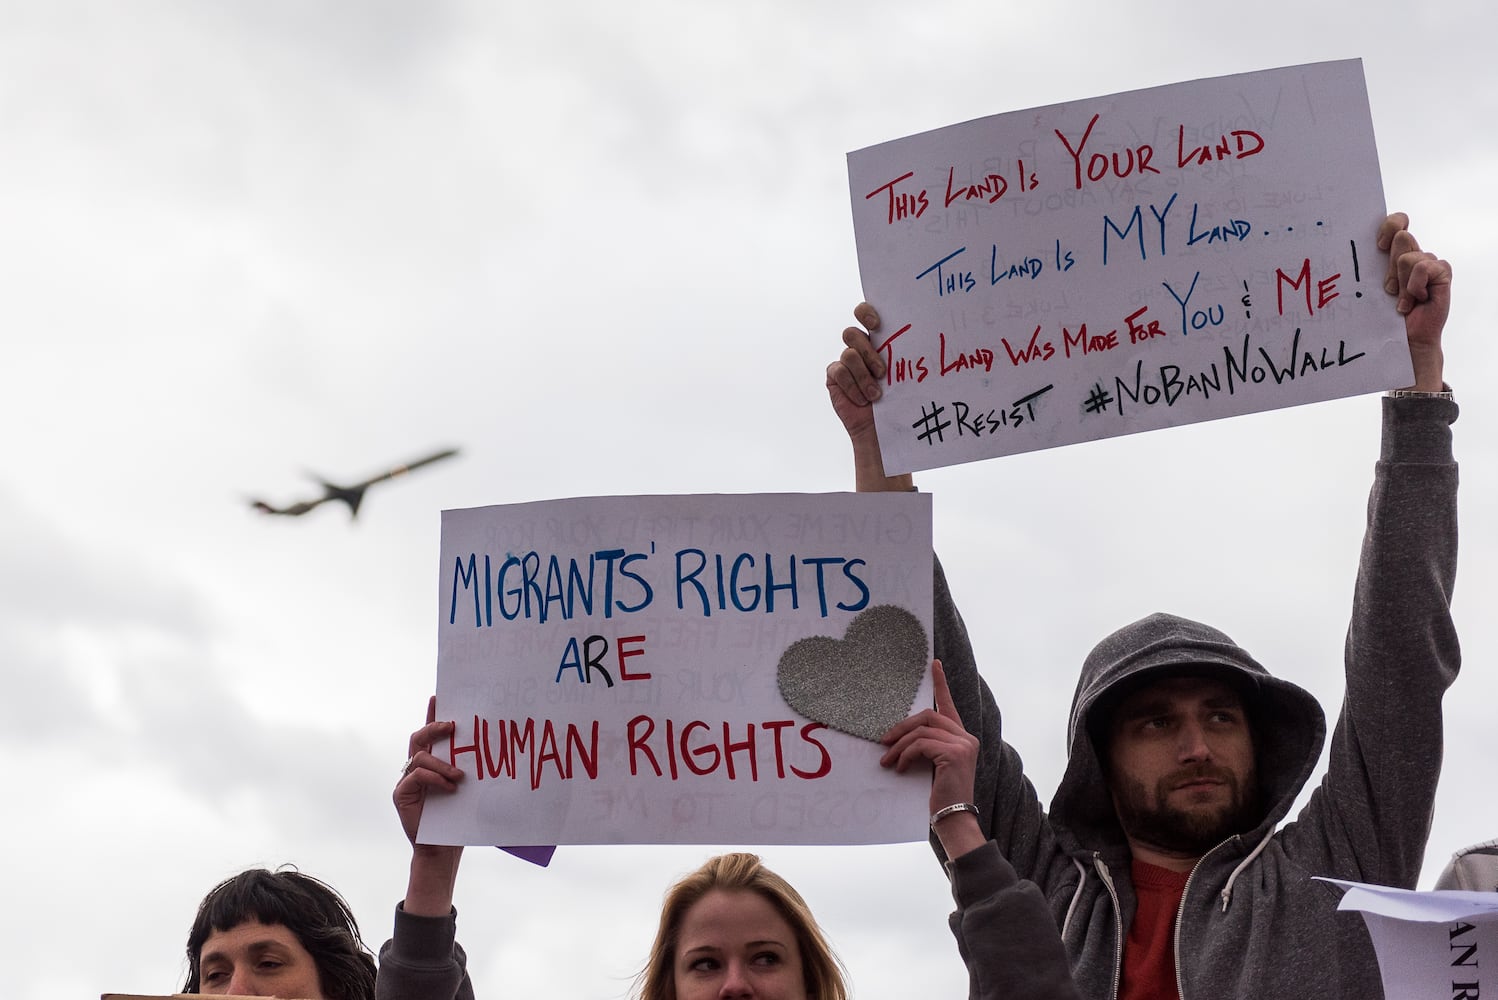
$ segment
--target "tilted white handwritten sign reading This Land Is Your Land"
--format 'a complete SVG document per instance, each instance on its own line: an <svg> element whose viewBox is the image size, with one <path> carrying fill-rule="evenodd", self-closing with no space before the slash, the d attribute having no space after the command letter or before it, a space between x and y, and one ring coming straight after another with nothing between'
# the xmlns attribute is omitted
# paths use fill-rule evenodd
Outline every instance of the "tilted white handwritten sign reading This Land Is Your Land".
<svg viewBox="0 0 1498 1000"><path fill-rule="evenodd" d="M891 472L1413 380L1357 60L980 118L848 183Z"/></svg>

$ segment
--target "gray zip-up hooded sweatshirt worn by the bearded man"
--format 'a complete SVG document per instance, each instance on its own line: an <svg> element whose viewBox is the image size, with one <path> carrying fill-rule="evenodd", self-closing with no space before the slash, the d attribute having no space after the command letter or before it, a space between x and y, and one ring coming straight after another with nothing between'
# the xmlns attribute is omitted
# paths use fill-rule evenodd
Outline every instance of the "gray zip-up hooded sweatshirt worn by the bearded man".
<svg viewBox="0 0 1498 1000"><path fill-rule="evenodd" d="M1089 729L1126 690L1182 668L1228 677L1245 692L1264 808L1252 829L1207 850L1191 873L1174 931L1182 1000L1383 996L1362 919L1338 913L1341 891L1312 876L1414 886L1441 769L1441 695L1461 662L1450 617L1456 404L1386 398L1383 415L1327 772L1282 828L1326 741L1320 705L1225 633L1165 614L1119 629L1088 656L1067 769L1046 811L1004 743L938 564L936 656L963 723L981 741L980 822L1019 877L1044 892L1083 997L1118 996L1135 907L1128 843ZM960 903L951 928L971 957L984 948L980 927L983 936L995 931Z"/></svg>

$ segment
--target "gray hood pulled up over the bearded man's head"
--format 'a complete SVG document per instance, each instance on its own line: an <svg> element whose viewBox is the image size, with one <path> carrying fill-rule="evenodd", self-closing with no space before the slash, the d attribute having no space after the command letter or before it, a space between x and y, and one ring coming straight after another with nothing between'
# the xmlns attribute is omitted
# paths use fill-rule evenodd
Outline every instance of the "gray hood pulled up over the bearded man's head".
<svg viewBox="0 0 1498 1000"><path fill-rule="evenodd" d="M1326 716L1305 689L1272 677L1225 633L1179 615L1155 612L1098 642L1082 665L1067 728L1067 772L1050 804L1052 822L1079 846L1122 844L1103 759L1094 734L1104 716L1140 686L1174 674L1210 674L1243 693L1254 732L1267 829L1290 811L1326 740Z"/></svg>

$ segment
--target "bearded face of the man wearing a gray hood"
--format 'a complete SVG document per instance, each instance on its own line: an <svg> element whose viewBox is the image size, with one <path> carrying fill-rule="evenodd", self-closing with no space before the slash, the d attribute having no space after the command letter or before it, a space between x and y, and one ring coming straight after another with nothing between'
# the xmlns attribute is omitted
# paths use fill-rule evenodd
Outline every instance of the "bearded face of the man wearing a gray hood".
<svg viewBox="0 0 1498 1000"><path fill-rule="evenodd" d="M1195 859L1257 822L1254 735L1231 684L1170 677L1113 713L1109 790L1131 843Z"/></svg>

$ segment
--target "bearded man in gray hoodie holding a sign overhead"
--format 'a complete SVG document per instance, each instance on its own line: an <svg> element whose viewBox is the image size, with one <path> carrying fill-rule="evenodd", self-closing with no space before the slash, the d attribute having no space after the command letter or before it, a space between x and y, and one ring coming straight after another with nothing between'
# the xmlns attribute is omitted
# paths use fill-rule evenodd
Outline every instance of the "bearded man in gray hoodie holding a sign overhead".
<svg viewBox="0 0 1498 1000"><path fill-rule="evenodd" d="M1383 404L1347 695L1327 774L1294 822L1279 828L1321 753L1320 705L1222 632L1164 614L1119 629L1088 656L1067 771L1044 810L1004 743L938 564L936 656L978 762L977 801L953 802L933 822L978 826L974 837L1041 886L1085 997L1383 996L1363 922L1338 919L1339 891L1314 876L1414 886L1441 768L1441 695L1461 659L1450 618L1456 403L1441 355L1452 268L1420 250L1408 223L1389 216L1378 247L1416 383ZM867 304L854 314L863 328L843 331L827 391L857 487L914 490L911 476L884 475L872 415L885 376L870 337L878 314ZM932 740L953 735L936 713L918 725ZM951 918L969 969L992 946L975 909L959 894ZM992 922L983 927L992 937Z"/></svg>

